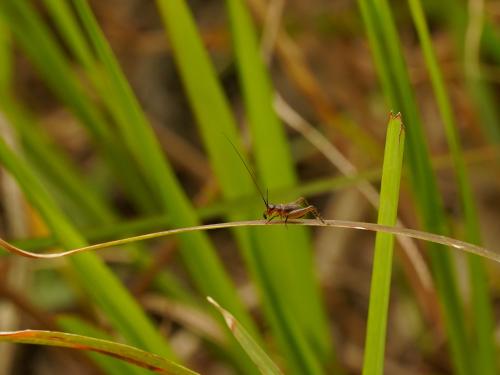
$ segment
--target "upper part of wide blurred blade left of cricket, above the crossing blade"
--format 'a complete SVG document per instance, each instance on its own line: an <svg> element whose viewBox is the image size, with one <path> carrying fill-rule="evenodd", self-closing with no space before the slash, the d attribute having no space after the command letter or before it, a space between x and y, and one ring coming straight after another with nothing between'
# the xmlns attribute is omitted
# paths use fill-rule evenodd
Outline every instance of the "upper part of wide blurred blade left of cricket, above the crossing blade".
<svg viewBox="0 0 500 375"><path fill-rule="evenodd" d="M157 3L224 197L234 199L250 195L255 188L226 139L230 138L240 149L236 140L236 124L192 16L183 0L158 0Z"/></svg>

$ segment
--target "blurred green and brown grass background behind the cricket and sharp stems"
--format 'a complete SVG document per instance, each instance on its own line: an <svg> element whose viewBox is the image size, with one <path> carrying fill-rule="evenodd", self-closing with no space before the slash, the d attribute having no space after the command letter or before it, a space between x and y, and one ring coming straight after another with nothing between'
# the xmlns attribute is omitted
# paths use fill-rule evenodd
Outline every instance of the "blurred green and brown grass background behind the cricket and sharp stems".
<svg viewBox="0 0 500 375"><path fill-rule="evenodd" d="M495 250L499 17L483 0L3 0L2 238L45 251L260 218L226 137L271 202L303 195L325 218L375 221L394 110L407 145L399 222ZM497 373L498 266L398 244L385 364L366 340L374 240L358 231L240 228L57 262L2 256L1 330L257 373L210 295L286 373ZM372 337L382 356L384 331ZM49 347L4 345L0 363L145 372Z"/></svg>

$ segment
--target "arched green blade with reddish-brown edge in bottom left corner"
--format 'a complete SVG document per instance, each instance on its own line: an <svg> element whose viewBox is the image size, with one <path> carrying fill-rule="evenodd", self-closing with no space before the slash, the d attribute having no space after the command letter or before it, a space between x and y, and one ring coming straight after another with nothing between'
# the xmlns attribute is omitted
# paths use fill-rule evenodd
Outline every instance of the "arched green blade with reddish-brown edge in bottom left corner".
<svg viewBox="0 0 500 375"><path fill-rule="evenodd" d="M172 375L197 374L175 362L132 346L70 333L37 330L0 332L0 341L95 351L114 358L120 358L157 373Z"/></svg>

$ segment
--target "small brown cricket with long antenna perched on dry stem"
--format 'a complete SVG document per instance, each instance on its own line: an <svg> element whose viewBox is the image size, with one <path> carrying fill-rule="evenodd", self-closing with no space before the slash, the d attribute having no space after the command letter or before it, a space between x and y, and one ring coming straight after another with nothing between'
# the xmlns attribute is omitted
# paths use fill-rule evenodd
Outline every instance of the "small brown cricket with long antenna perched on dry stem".
<svg viewBox="0 0 500 375"><path fill-rule="evenodd" d="M225 135L225 134L224 134ZM285 220L285 224L288 222L289 219L299 219L301 217L304 217L307 214L312 214L316 219L324 223L325 221L319 214L318 209L316 206L313 206L312 204L309 204L307 200L303 197L300 197L299 199L290 202L290 203L280 203L280 204L273 204L269 203L269 191L266 190L266 197L264 197L264 193L260 189L259 184L257 183L257 178L255 177L255 174L252 172L250 167L247 165L245 162L245 159L243 159L243 156L241 156L240 152L236 148L236 146L231 142L231 140L226 136L227 140L233 146L234 151L236 151L236 154L240 158L241 162L245 166L246 170L248 171L248 174L250 177L252 177L252 181L255 184L255 187L259 191L259 194L264 201L264 204L266 205L266 210L263 213L263 217L266 220L266 224L270 223L271 220L273 220L276 217L279 217L281 220Z"/></svg>

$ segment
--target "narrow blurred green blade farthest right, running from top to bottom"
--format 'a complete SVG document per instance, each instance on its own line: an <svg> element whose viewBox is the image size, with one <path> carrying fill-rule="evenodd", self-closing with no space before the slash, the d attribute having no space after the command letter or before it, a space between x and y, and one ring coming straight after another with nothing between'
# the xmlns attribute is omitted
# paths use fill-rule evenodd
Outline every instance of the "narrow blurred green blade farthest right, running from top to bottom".
<svg viewBox="0 0 500 375"><path fill-rule="evenodd" d="M460 198L465 221L465 239L479 244L481 242L478 214L474 203L468 172L462 155L457 124L453 115L451 102L446 92L444 79L439 69L436 55L432 47L425 15L419 0L409 0L411 13L420 38L427 68L436 101L445 127L446 138L452 154L455 174L457 176ZM482 261L471 256L469 258L469 275L471 279L471 306L473 310L473 329L475 332L474 365L475 373L495 374L495 344L493 340L493 316L489 302L486 270Z"/></svg>

